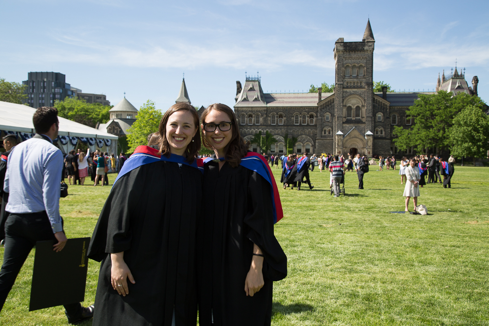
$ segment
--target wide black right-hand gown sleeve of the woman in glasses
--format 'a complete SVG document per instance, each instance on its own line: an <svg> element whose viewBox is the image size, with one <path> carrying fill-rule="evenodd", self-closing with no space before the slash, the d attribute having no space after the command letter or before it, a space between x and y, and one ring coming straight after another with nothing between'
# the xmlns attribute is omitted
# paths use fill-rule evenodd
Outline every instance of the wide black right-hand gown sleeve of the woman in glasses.
<svg viewBox="0 0 489 326"><path fill-rule="evenodd" d="M273 233L273 206L270 184L253 172L248 183L248 213L244 224L249 227L246 238L262 250L265 256L264 274L271 281L287 276L287 256Z"/></svg>

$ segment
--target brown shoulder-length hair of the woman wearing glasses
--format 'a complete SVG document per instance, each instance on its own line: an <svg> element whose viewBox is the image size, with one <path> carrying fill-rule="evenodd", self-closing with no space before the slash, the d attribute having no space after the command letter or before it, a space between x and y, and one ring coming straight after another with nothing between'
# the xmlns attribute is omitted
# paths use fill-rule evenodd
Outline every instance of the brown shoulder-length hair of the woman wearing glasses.
<svg viewBox="0 0 489 326"><path fill-rule="evenodd" d="M226 155L224 158L231 167L236 168L241 163L241 159L246 156L246 153L248 152L249 142L245 141L240 134L240 129L238 128L237 123L238 120L236 119L234 111L225 104L215 103L208 106L207 109L205 109L200 116L200 121L202 124L205 123L205 117L207 116L207 114L209 114L211 110L226 113L229 117L229 120L231 121L232 136L231 140L227 144ZM205 140L204 130L201 130L201 132L202 144L205 148L212 150L210 144Z"/></svg>

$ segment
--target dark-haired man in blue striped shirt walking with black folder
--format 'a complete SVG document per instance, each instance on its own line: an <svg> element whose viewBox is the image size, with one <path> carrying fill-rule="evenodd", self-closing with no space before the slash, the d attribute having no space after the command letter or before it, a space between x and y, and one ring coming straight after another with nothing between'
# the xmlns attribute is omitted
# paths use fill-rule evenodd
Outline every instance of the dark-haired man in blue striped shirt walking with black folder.
<svg viewBox="0 0 489 326"><path fill-rule="evenodd" d="M32 120L36 135L10 153L3 184L3 190L9 193L5 210L10 215L5 222L0 310L36 242L54 240L56 252L63 250L67 242L59 213L63 154L52 143L58 136L58 110L39 108ZM65 309L69 323L93 316L93 306L66 304Z"/></svg>

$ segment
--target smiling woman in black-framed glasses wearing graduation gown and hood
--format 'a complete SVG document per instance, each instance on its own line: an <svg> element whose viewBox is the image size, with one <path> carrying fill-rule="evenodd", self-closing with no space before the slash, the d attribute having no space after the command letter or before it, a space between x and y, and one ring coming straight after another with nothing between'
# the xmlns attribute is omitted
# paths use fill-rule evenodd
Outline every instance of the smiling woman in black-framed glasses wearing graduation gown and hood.
<svg viewBox="0 0 489 326"><path fill-rule="evenodd" d="M201 115L202 143L217 159L204 165L197 233L200 326L270 325L273 281L287 276L273 233L283 215L277 186L263 156L247 152L236 121L223 104Z"/></svg>

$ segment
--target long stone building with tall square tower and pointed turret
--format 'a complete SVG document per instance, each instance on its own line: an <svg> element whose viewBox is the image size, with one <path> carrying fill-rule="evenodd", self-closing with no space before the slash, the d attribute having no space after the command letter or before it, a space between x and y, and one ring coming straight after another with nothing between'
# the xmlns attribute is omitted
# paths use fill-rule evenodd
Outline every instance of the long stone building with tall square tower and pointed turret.
<svg viewBox="0 0 489 326"><path fill-rule="evenodd" d="M322 93L321 88L318 93L264 93L258 76L246 77L244 87L238 81L234 110L244 138L269 131L278 140L271 152L279 154L286 152L286 134L297 137L293 149L297 153L398 154L392 131L395 126L407 128L413 123L406 110L420 93L387 92L387 87L374 93L374 47L370 21L361 42L345 42L343 38L335 42L333 93ZM455 68L451 76L445 78L444 74L443 82L439 78L437 91L477 94L477 76L472 83L473 89Z"/></svg>

